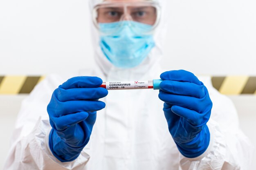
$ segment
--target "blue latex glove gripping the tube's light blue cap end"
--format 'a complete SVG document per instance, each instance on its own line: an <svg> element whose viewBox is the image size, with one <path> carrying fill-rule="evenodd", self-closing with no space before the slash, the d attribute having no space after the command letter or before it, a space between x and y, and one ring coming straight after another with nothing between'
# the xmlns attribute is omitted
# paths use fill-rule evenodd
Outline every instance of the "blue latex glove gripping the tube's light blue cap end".
<svg viewBox="0 0 256 170"><path fill-rule="evenodd" d="M207 88L193 73L167 71L160 75L159 99L164 101L164 115L169 131L185 157L202 155L209 146L210 133L206 125L212 102Z"/></svg>

